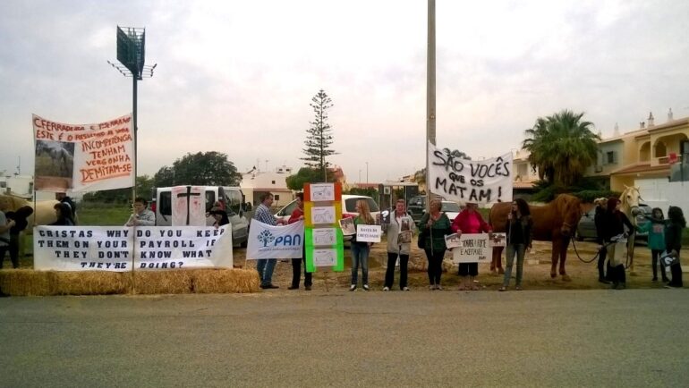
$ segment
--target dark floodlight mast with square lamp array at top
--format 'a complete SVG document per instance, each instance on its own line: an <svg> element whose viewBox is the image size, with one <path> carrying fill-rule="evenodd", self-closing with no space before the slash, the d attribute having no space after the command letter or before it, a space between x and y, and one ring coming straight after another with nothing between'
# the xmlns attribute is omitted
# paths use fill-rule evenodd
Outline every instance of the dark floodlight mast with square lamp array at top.
<svg viewBox="0 0 689 388"><path fill-rule="evenodd" d="M117 26L117 61L121 64L107 61L107 63L110 63L117 71L121 72L124 77L132 77L132 131L134 138L132 204L136 199L136 172L137 161L139 159L137 154L139 145L137 139L137 131L139 130L139 126L137 125L137 82L143 80L144 77L153 77L153 70L157 66L157 63L152 66L144 64L146 60L145 50L146 29Z"/></svg>

